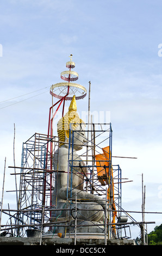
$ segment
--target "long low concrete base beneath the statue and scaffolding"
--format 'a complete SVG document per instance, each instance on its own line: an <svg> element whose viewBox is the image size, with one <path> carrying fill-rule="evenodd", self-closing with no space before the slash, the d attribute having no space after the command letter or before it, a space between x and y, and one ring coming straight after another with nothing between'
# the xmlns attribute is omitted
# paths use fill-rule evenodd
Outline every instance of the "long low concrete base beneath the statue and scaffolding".
<svg viewBox="0 0 162 256"><path fill-rule="evenodd" d="M1 237L0 245L40 245L39 237ZM59 237L42 237L41 245L55 245L55 246L73 246L73 238L59 238ZM104 239L81 239L77 238L77 246L91 245L104 246ZM107 245L135 245L134 240L127 239L108 239Z"/></svg>

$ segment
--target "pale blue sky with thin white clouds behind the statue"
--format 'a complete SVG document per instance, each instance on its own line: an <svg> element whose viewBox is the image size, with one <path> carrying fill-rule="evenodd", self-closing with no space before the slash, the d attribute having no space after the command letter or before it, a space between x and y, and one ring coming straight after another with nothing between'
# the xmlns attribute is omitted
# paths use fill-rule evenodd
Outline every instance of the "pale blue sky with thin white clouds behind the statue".
<svg viewBox="0 0 162 256"><path fill-rule="evenodd" d="M47 134L49 89L61 82L72 54L78 83L89 90L91 81L91 113L110 114L112 155L137 157L113 159L123 178L133 180L122 184L122 207L141 211L143 174L145 210L162 212L161 8L160 0L0 0L1 194L5 157L4 190L14 189L8 168L14 164L14 124L20 166L22 143L35 132ZM88 96L77 109L88 111ZM3 208L14 200L5 192ZM141 214L132 216L141 221ZM146 214L145 221L155 221L149 233L162 223L161 214Z"/></svg>

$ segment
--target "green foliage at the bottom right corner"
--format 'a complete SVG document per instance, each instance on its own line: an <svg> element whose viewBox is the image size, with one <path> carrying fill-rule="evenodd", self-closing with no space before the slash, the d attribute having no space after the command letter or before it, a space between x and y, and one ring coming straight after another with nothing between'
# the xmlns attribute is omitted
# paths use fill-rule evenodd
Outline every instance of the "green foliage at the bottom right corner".
<svg viewBox="0 0 162 256"><path fill-rule="evenodd" d="M148 234L148 245L162 245L162 224Z"/></svg>

